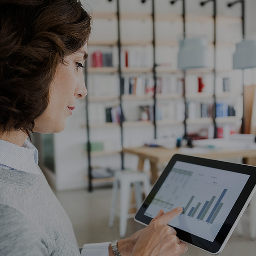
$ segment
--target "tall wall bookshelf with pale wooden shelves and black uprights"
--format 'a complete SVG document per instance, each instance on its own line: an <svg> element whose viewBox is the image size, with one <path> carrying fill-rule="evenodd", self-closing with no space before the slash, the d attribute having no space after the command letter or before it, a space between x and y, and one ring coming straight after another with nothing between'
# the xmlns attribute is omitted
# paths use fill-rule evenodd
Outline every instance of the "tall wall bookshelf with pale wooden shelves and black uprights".
<svg viewBox="0 0 256 256"><path fill-rule="evenodd" d="M115 1L116 2L116 1ZM113 9L115 9L115 5L113 4ZM199 7L200 8L200 7ZM173 81L176 81L175 84L177 85L176 90L178 92L174 92L175 89L172 90L172 93L148 93L148 94L136 94L136 93L125 93L122 91L122 88L120 87L120 83L116 86L118 93L115 95L94 95L92 90L90 91L90 82L88 81L88 96L87 96L87 106L90 108L93 104L102 104L103 108L110 107L111 103L113 103L113 106L121 105L122 110L124 112L124 116L126 117L126 112L131 111L139 111L139 107L141 105L148 105L153 106L156 110L159 110L160 107L163 109L168 108L168 104L172 102L173 106L175 108L179 108L181 104L184 105L184 95L182 95L182 77L183 72L181 70L177 69L177 60L174 60L173 63L169 63L170 65L166 65L165 63L162 63L161 65L154 65L154 54L153 49L156 50L156 64L158 64L159 59L157 58L158 54L163 55L161 53L161 48L169 48L170 53L169 59L171 57L177 56L177 49L178 49L178 41L177 36L174 38L171 38L171 36L165 36L160 35L159 28L163 24L168 24L170 27L181 28L182 27L182 16L181 15L168 15L168 14L160 14L155 13L154 14L154 21L152 21L152 13L123 13L122 10L119 11L119 14L117 13L93 13L93 19L98 20L97 22L110 22L110 24L115 24L113 26L115 30L115 36L112 36L112 39L110 37L107 37L106 40L102 38L100 40L98 37L95 38L95 40L92 40L88 45L89 50L89 57L93 53L94 50L101 49L102 52L104 52L104 49L107 49L107 51L112 52L113 57L113 66L111 67L92 67L90 66L90 63L88 63L87 67L87 74L88 76L96 76L96 75L102 75L102 76L115 76L117 78L124 79L122 80L122 83L124 83L126 79L134 78L134 77L146 77L153 79L151 80L151 84L153 87L155 86L154 83L154 72L156 74L156 80L160 77L162 79L167 79L168 77L172 79ZM145 39L143 39L143 36L136 37L136 36L127 36L124 35L125 28L128 27L129 22L141 22L141 26L146 26L145 24L152 25L152 22L154 23L153 26L155 26L155 39L152 35L152 26L150 29L146 31L151 31L147 35ZM230 27L236 27L238 24L240 24L241 18L238 17L222 17L217 16L216 17L216 26L223 26L223 24L230 28ZM207 15L186 15L186 24L188 31L191 30L193 32L194 27L198 28L201 26L202 33L206 32L209 37L209 49L213 49L214 46L214 39L211 35L211 29L213 29L213 18ZM119 26L118 26L119 24ZM132 23L133 24L133 23ZM165 25L164 25L165 26ZM119 33L118 33L118 27L119 27ZM238 31L238 29L236 30ZM130 31L129 31L130 32ZM181 31L177 31L176 34L181 34ZM123 33L123 34L122 34ZM110 33L111 35L114 33ZM175 33L174 33L175 34ZM217 35L217 41L216 41L216 50L221 48L232 48L234 47L234 42L230 42L226 37L224 40L221 40L221 35L225 34L224 32L221 32ZM123 35L123 36L122 36ZM154 44L154 45L153 45ZM92 50L91 50L92 49ZM124 65L124 52L127 51L134 51L136 52L137 49L143 49L146 50L149 57L149 63L150 65L147 66L125 66ZM120 53L119 53L120 51ZM212 50L213 52L213 50ZM221 55L219 53L219 55ZM230 55L231 56L231 55ZM174 58L175 59L175 58ZM89 60L90 62L90 60ZM227 66L225 68L216 66L216 77L219 77L219 80L224 79L225 77L230 77L231 66ZM202 77L205 81L205 84L207 85L209 80L213 80L212 75L214 72L214 66L210 66L209 68L203 68L203 69L190 69L186 71L187 76L194 76L194 78ZM190 80L187 79L187 87L190 87ZM232 82L230 81L230 84ZM213 92L212 84L209 83L207 85L210 89L206 90L205 92L198 93L196 91L193 91L191 88L186 91L186 102L198 102L198 103L207 103L212 102L214 104L214 96L216 97L217 102L225 102L225 101L231 101L230 104L233 104L233 102L236 101L237 98L241 97L242 93L238 90L230 90L228 92L225 91L218 91ZM158 87L158 81L156 81L156 90ZM113 89L110 89L110 91L114 91ZM154 89L153 89L154 92ZM233 102L232 102L233 101ZM235 104L235 103L234 103ZM170 104L170 106L172 106ZM184 108L181 110L184 111ZM136 109L136 110L135 110ZM180 112L180 113L181 113ZM90 113L88 113L90 115ZM91 132L94 131L104 131L107 132L108 130L115 129L117 133L117 137L125 137L128 134L130 134L131 131L136 129L136 132L140 130L141 133L143 133L144 129L151 129L150 131L153 132L152 137L149 138L149 140L154 138L154 134L156 136L161 133L162 129L163 131L168 131L168 129L174 129L176 131L179 131L180 133L183 133L183 119L177 119L174 116L178 115L178 113L173 114L172 117L159 119L159 116L157 114L154 115L155 119L147 120L147 121L140 121L135 118L127 118L127 120L123 120L120 123L106 123L104 120L102 120L102 123L94 123L93 120L88 120L87 125L83 124L83 127L87 126L87 129ZM184 116L185 118L185 116ZM226 116L226 117L216 117L216 125L225 125L225 124L238 124L240 121L239 116ZM207 127L212 124L212 117L202 117L202 118L187 118L186 119L187 125L192 127L191 131L193 132L193 127L195 126L198 129L198 126ZM156 128L159 130L156 132ZM131 130L131 131L129 131ZM134 130L135 131L135 130ZM127 133L127 134L126 134ZM167 133L167 132L166 132ZM90 135L88 135L88 138ZM125 143L122 142L123 138L118 138L119 144L122 146L126 146ZM106 157L111 156L114 154L121 154L121 161L124 161L124 156L122 156L121 150L113 150L113 151L106 151L106 152L87 152L88 158L89 157ZM89 156L90 155L90 156ZM124 164L122 163L122 167L124 167ZM88 179L89 183L92 182L92 178L89 177ZM89 185L89 188L92 189L92 185Z"/></svg>

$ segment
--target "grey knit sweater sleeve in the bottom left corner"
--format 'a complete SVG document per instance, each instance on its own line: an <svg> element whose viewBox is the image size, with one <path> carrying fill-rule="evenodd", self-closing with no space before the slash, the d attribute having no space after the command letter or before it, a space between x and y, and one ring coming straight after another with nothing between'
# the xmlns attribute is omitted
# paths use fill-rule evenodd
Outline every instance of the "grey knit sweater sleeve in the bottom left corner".
<svg viewBox="0 0 256 256"><path fill-rule="evenodd" d="M0 255L49 255L47 243L35 225L6 205L0 205Z"/></svg>

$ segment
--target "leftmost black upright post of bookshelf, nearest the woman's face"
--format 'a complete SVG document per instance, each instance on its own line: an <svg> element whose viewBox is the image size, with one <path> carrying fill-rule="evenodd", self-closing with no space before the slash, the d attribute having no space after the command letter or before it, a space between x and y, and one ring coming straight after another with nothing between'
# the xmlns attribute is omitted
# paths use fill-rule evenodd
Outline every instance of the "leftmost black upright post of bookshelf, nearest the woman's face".
<svg viewBox="0 0 256 256"><path fill-rule="evenodd" d="M88 72L87 72L87 61L84 62L84 84L88 88ZM90 142L90 127L89 127L89 116L88 116L88 96L85 97L85 112L86 112L86 130L87 130L87 157L88 157L88 191L93 191L92 184L92 165L91 165L91 142Z"/></svg>

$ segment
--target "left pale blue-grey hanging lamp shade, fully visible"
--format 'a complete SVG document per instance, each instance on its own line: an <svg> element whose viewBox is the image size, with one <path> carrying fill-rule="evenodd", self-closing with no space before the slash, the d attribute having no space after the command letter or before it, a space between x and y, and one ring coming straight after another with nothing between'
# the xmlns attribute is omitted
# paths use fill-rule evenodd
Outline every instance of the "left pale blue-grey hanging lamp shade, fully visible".
<svg viewBox="0 0 256 256"><path fill-rule="evenodd" d="M178 68L208 67L208 40L207 37L186 38L179 41Z"/></svg>

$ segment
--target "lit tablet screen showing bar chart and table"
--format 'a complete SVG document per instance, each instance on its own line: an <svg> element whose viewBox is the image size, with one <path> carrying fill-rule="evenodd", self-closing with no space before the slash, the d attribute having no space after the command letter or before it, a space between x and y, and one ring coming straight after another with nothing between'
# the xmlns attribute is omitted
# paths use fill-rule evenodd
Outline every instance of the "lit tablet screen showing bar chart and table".
<svg viewBox="0 0 256 256"><path fill-rule="evenodd" d="M147 207L154 218L160 209L183 207L169 225L213 242L250 175L177 161Z"/></svg>

